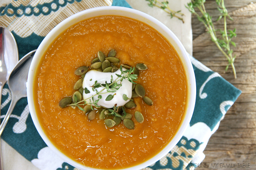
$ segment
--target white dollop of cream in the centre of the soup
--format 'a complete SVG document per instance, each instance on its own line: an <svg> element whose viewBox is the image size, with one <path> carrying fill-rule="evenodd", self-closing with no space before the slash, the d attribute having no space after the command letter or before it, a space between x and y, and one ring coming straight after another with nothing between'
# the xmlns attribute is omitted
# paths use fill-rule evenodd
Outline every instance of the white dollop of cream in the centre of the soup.
<svg viewBox="0 0 256 170"><path fill-rule="evenodd" d="M123 68L123 70L125 70ZM92 91L92 85L94 85L95 81L97 81L97 83L100 84L106 84L105 82L107 81L108 84L110 84L110 80L111 80L111 75L113 76L113 80L116 80L116 78L118 78L117 80L119 80L120 78L116 76L116 74L121 75L121 71L117 70L114 73L104 73L104 72L100 72L97 70L90 70L85 74L84 77L84 81L83 81L83 88L87 88L90 93L85 94L85 92L83 92L83 98L87 99L91 96L93 96L94 94L96 94L96 91ZM126 74L126 73L125 73ZM122 75L123 76L123 75ZM104 89L104 86L98 87L96 88L98 92L100 93L105 93L105 94L101 94L102 98L98 101L98 105L99 106L103 106L103 107L107 107L107 108L112 108L115 106L115 104L117 104L116 106L124 106L125 103L127 103L129 100L124 100L123 99L123 95L126 94L126 96L128 98L131 99L132 97L132 82L128 81L127 78L123 79L123 81L118 81L118 84L122 83L122 86L120 86L120 88L116 91L116 92L107 92L107 89L103 90L102 92L100 92L102 89ZM112 100L106 101L106 98L108 97L108 95L113 95L115 94ZM94 101L98 100L98 95L93 97ZM90 100L86 100L86 103L89 103ZM92 98L91 98L91 102L92 102Z"/></svg>

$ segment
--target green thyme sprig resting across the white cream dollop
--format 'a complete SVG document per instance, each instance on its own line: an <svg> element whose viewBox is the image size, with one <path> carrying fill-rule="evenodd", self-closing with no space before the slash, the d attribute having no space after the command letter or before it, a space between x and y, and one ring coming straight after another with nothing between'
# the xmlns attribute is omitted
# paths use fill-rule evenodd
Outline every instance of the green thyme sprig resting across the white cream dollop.
<svg viewBox="0 0 256 170"><path fill-rule="evenodd" d="M94 84L92 85L92 90L95 91L96 94L88 97L87 99L81 100L79 102L76 102L77 101L77 97L75 95L75 99L76 99L75 103L74 104L69 104L67 106L77 106L82 111L84 111L84 109L82 107L80 107L81 105L86 105L86 104L92 105L93 104L96 107L100 107L97 103L102 98L101 94L110 93L110 92L116 92L120 88L120 86L122 86L122 81L124 79L127 78L128 81L132 82L133 84L136 84L134 81L136 81L138 77L137 77L136 74L132 74L133 71L134 71L134 67L133 68L131 67L130 69L127 69L127 70L123 70L122 65L121 65L120 66L120 71L121 71L121 74L116 74L117 78L115 80L113 80L113 76L111 76L110 83L105 82L105 84L100 84L97 81L95 81ZM118 82L120 82L120 83L118 83ZM102 90L98 91L97 88L99 88L101 86L103 86L105 88L103 88ZM105 89L107 89L107 92L103 92ZM88 89L86 89L86 92L90 93L90 91ZM93 97L97 96L97 95L98 95L98 100L94 101ZM107 101L108 100L112 100L114 95L116 95L116 93L113 94L113 95L112 94L108 95L106 100ZM91 100L91 98L92 98L92 100ZM86 100L88 100L88 99L90 100L90 102L87 103ZM84 103L82 103L82 102L84 102ZM91 106L91 108L92 108L92 106ZM93 108L92 108L92 110L93 110Z"/></svg>

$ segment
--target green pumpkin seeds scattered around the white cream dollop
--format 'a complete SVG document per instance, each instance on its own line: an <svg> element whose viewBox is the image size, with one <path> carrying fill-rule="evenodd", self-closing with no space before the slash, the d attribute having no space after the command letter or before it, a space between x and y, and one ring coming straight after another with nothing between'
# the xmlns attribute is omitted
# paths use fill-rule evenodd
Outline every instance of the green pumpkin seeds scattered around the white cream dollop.
<svg viewBox="0 0 256 170"><path fill-rule="evenodd" d="M59 102L59 106L61 108L67 107L69 104L77 103L82 100L83 92L87 89L84 89L82 87L83 79L85 77L85 74L90 69L92 70L98 70L101 72L116 72L120 68L118 68L116 65L120 63L120 60L116 58L116 50L111 49L108 53L108 57L102 52L98 51L96 58L94 58L91 61L91 66L80 66L76 69L75 75L81 76L81 78L74 84L73 89L76 90L72 97L65 97ZM123 68L130 69L131 66L127 64L121 64ZM138 77L140 75L140 71L147 70L148 67L144 63L138 63L136 64L136 67L134 68L133 74L136 74ZM133 98L135 97L141 97L143 101L148 104L149 106L153 105L153 101L145 96L146 92L142 85L140 84L132 84L132 98L130 101L128 101L124 106L119 107L113 107L113 108L105 108L105 107L99 107L97 110L99 110L99 119L104 120L107 127L111 128L114 126L119 125L122 121L126 128L128 129L134 129L134 122L132 119L132 114L126 113L125 109L133 109L136 107L136 104L133 102ZM88 120L91 121L95 119L96 117L96 109L92 107L92 105L87 104L84 106L83 113L88 116ZM112 111L112 112L111 112ZM139 112L135 111L134 118L137 122L142 123L144 122L144 116Z"/></svg>

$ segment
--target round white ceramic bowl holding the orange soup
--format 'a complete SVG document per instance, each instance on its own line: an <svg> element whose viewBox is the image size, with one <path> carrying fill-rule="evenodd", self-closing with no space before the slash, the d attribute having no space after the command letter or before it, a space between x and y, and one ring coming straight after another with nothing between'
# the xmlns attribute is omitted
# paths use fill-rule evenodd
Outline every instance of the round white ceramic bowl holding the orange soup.
<svg viewBox="0 0 256 170"><path fill-rule="evenodd" d="M49 47L49 45L55 40L56 37L59 36L60 33L68 29L70 26L85 20L86 18L92 18L96 16L105 16L105 15L117 15L117 16L124 16L128 18L133 18L139 21L142 21L149 26L152 26L154 29L156 29L159 33L161 33L176 49L177 53L180 56L181 62L184 65L186 75L187 75L187 81L188 81L188 106L187 110L185 112L184 120L178 130L178 132L175 134L175 136L172 138L172 140L169 142L169 144L166 145L166 147L163 148L162 151L157 153L153 158L145 161L144 163L140 165L136 165L133 167L129 167L123 170L139 170L144 167L147 167L159 159L163 158L168 152L171 151L171 149L179 142L180 138L184 134L185 130L188 127L188 124L190 122L190 119L192 117L195 101L196 101L196 80L194 75L194 70L191 64L191 61L187 55L187 52L179 39L172 33L172 31L167 28L164 24L162 24L160 21L156 20L155 18L149 16L148 14L145 14L143 12L133 10L130 8L124 8L124 7L115 7L115 6L108 6L108 7L97 7L88 9L85 11L78 12L64 21L62 21L60 24L58 24L56 27L52 29L52 31L44 38L44 40L41 42L40 46L36 50L36 54L33 57L29 73L28 73L28 106L29 111L31 114L31 117L33 119L33 122L36 126L37 131L39 132L40 136L43 138L44 142L57 154L59 155L64 161L69 163L72 166L75 166L79 169L86 169L86 170L96 170L95 168L91 167L85 167L74 160L68 158L66 155L64 155L62 152L60 152L49 140L49 138L45 135L39 121L36 115L36 109L34 106L34 101L37 100L33 96L33 82L35 79L35 70L38 67L38 64L45 52L45 50Z"/></svg>

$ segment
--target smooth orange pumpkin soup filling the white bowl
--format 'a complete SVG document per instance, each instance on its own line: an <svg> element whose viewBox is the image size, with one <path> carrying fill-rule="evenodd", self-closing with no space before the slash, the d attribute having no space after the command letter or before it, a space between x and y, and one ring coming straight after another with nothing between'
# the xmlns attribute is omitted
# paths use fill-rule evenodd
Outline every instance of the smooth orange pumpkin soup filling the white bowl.
<svg viewBox="0 0 256 170"><path fill-rule="evenodd" d="M154 103L148 106L134 98L144 122L134 116L134 129L123 122L113 128L104 120L89 121L77 107L60 108L59 101L72 96L80 79L74 71L101 50L116 49L120 64L145 63L136 83L144 86ZM61 152L82 165L100 169L119 169L138 165L160 152L176 134L187 107L187 80L184 67L172 45L155 29L140 21L118 16L90 18L61 33L44 54L36 71L34 91L39 122ZM128 101L128 100L127 100Z"/></svg>

